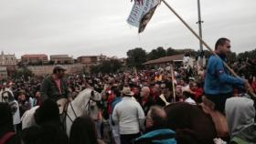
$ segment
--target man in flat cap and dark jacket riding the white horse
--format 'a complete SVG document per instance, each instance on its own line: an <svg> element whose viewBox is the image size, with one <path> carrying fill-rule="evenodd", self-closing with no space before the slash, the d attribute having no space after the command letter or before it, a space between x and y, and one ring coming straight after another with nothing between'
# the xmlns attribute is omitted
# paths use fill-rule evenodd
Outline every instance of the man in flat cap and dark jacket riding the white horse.
<svg viewBox="0 0 256 144"><path fill-rule="evenodd" d="M71 98L68 83L64 79L65 71L65 67L58 65L53 68L53 73L50 76L45 77L40 88L43 101L47 98L54 101L57 101L59 98Z"/></svg>

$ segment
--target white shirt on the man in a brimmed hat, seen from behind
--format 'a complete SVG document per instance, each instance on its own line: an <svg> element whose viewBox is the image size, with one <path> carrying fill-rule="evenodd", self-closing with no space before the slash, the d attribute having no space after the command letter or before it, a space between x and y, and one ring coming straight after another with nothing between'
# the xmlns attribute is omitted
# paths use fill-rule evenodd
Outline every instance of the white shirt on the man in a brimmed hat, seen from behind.
<svg viewBox="0 0 256 144"><path fill-rule="evenodd" d="M118 122L121 135L137 134L144 121L144 110L133 98L124 97L113 109L112 119Z"/></svg>

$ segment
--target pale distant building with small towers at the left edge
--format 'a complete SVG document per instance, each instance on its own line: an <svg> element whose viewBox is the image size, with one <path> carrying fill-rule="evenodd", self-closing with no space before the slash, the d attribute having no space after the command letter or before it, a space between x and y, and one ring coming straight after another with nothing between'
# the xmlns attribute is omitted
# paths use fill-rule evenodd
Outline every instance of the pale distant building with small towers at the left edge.
<svg viewBox="0 0 256 144"><path fill-rule="evenodd" d="M2 51L0 55L0 66L16 66L17 60L16 56L14 55L5 55Z"/></svg>

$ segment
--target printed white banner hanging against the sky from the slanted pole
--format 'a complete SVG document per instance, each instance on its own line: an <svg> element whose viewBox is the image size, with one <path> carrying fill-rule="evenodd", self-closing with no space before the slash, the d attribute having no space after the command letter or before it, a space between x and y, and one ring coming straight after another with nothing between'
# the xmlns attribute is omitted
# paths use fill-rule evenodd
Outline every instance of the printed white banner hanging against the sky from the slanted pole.
<svg viewBox="0 0 256 144"><path fill-rule="evenodd" d="M143 32L152 15L154 15L156 6L159 4L160 0L144 0L143 3L134 1L127 23L138 27L139 33Z"/></svg>

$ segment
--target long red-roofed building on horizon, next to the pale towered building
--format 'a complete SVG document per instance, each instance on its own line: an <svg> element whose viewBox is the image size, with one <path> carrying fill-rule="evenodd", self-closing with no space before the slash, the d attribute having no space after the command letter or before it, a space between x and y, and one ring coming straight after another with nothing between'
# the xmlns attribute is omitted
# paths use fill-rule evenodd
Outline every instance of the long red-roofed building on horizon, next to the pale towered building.
<svg viewBox="0 0 256 144"><path fill-rule="evenodd" d="M30 64L47 64L48 63L48 56L45 54L32 54L32 55L23 55L21 57L21 62L25 65Z"/></svg>

